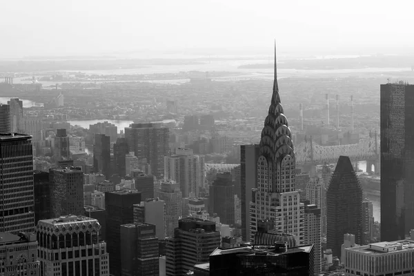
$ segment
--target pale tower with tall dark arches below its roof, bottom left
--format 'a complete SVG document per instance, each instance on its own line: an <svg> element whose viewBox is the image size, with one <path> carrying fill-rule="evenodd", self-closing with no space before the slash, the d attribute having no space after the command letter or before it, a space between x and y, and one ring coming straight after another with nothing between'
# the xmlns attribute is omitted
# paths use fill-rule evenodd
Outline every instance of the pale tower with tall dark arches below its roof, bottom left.
<svg viewBox="0 0 414 276"><path fill-rule="evenodd" d="M106 242L97 219L69 215L37 223L40 275L109 275Z"/></svg>

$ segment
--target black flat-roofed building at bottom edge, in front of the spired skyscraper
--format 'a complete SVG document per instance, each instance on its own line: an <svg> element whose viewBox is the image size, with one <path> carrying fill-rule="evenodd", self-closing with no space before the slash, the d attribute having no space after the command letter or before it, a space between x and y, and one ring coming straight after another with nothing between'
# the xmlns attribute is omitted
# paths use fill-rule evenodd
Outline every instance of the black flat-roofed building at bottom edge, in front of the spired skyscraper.
<svg viewBox="0 0 414 276"><path fill-rule="evenodd" d="M286 242L274 246L217 248L210 255L210 275L215 276L313 276L313 245L288 248Z"/></svg>

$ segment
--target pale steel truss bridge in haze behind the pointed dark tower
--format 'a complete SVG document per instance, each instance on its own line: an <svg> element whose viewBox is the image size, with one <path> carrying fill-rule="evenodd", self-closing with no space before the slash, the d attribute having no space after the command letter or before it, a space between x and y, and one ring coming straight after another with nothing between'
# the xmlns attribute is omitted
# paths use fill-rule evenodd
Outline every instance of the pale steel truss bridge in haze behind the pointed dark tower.
<svg viewBox="0 0 414 276"><path fill-rule="evenodd" d="M348 156L353 162L366 161L366 171L372 172L380 169L380 139L377 132L370 132L369 137L358 144L342 146L320 146L311 139L305 139L295 146L295 157L297 166L321 165L336 163L339 156Z"/></svg>

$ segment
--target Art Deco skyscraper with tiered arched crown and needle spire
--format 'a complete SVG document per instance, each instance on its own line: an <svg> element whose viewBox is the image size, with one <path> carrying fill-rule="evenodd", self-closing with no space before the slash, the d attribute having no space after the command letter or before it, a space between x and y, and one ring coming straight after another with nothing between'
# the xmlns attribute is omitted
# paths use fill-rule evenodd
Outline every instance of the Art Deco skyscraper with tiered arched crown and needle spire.
<svg viewBox="0 0 414 276"><path fill-rule="evenodd" d="M276 49L275 49L276 51ZM264 121L257 161L257 188L250 202L250 241L257 231L257 220L274 221L275 230L295 235L304 242L304 204L295 190L295 152L288 119L283 114L277 86L276 53L273 95Z"/></svg>

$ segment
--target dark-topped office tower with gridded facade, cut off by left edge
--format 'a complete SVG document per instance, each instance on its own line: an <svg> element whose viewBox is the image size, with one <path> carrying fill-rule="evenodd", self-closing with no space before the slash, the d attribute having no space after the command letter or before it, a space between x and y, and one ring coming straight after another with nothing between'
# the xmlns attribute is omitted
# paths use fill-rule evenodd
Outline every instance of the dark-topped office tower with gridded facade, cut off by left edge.
<svg viewBox="0 0 414 276"><path fill-rule="evenodd" d="M0 134L0 231L34 232L32 137Z"/></svg>

